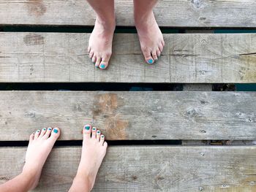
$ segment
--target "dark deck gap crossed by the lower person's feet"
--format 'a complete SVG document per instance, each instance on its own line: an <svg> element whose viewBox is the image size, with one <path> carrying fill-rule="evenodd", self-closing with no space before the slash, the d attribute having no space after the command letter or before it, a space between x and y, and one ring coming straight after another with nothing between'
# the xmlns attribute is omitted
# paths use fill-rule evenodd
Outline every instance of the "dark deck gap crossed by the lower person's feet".
<svg viewBox="0 0 256 192"><path fill-rule="evenodd" d="M181 140L113 140L108 141L108 146L116 145L181 145ZM82 140L57 141L54 146L82 146ZM1 141L0 147L26 147L28 141Z"/></svg>

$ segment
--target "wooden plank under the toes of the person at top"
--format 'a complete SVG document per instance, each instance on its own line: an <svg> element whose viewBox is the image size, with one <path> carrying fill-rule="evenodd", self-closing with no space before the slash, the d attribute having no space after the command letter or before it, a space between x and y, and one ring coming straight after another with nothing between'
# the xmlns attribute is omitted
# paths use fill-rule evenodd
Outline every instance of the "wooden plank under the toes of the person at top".
<svg viewBox="0 0 256 192"><path fill-rule="evenodd" d="M136 34L116 34L105 71L88 57L89 35L1 33L0 82L256 82L256 34L165 34L152 66Z"/></svg>

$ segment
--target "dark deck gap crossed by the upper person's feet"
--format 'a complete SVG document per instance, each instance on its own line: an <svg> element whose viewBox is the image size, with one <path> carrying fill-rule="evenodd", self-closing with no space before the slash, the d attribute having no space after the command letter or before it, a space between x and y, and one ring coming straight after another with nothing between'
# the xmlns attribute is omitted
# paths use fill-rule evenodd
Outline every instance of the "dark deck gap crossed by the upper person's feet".
<svg viewBox="0 0 256 192"><path fill-rule="evenodd" d="M58 33L91 33L94 26L50 26L50 25L0 25L3 32L58 32ZM184 34L193 30L193 34L202 30L216 31L218 34L256 33L255 28L223 28L223 27L160 27L163 34ZM135 34L135 26L116 26L115 33Z"/></svg>

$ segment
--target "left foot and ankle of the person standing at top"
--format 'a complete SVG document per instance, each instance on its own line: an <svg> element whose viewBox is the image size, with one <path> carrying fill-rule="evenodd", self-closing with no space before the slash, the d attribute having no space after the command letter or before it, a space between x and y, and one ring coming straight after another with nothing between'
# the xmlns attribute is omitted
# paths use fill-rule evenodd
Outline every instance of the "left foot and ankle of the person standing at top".
<svg viewBox="0 0 256 192"><path fill-rule="evenodd" d="M106 69L112 54L116 27L114 0L87 0L97 14L94 31L89 39L89 57L95 66Z"/></svg>

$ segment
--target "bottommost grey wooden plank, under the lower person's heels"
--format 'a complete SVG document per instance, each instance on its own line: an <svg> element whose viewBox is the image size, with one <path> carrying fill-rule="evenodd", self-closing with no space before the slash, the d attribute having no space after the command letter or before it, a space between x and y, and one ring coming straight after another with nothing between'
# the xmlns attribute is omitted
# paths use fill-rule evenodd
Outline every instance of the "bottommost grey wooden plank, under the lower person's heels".
<svg viewBox="0 0 256 192"><path fill-rule="evenodd" d="M20 173L25 147L0 148L0 183ZM50 154L35 191L67 191L80 147ZM58 165L58 166L56 166ZM243 191L256 188L256 147L109 147L94 191Z"/></svg>

